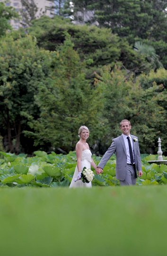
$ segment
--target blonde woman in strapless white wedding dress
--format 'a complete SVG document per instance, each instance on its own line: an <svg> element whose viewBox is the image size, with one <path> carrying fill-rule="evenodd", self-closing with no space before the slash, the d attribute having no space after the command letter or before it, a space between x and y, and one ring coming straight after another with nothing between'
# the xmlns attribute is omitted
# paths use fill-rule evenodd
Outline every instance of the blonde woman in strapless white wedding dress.
<svg viewBox="0 0 167 256"><path fill-rule="evenodd" d="M92 187L92 183L83 183L81 178L81 171L83 167L87 167L88 169L91 167L95 168L97 174L98 169L97 165L92 159L92 153L89 149L89 145L87 143L87 139L89 137L89 129L86 126L81 126L78 131L79 134L79 142L77 142L75 150L77 155L77 166L75 168L74 175L72 177L72 181L70 183L70 188L76 188L76 187ZM74 179L77 178L77 181L75 182Z"/></svg>

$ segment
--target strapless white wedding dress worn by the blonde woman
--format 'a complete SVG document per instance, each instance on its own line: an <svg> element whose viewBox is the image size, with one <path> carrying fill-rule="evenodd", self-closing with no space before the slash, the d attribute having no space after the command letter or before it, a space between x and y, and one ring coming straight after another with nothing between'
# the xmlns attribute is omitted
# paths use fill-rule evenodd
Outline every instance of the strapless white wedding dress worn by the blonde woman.
<svg viewBox="0 0 167 256"><path fill-rule="evenodd" d="M83 167L87 167L88 169L90 169L91 162L92 162L92 153L91 153L90 149L83 150L82 158L81 158L81 168L83 169ZM72 181L70 183L70 188L78 188L78 187L91 188L92 187L91 182L83 183L81 180L74 182L74 179L77 178L77 175L78 175L78 168L76 166L74 175L72 177Z"/></svg>

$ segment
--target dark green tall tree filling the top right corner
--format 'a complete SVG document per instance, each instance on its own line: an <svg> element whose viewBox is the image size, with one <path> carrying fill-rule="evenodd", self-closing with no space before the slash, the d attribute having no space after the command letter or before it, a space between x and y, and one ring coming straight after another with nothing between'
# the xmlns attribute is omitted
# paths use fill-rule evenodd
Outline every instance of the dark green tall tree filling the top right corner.
<svg viewBox="0 0 167 256"><path fill-rule="evenodd" d="M166 0L74 0L74 19L79 11L92 10L94 16L88 22L97 21L99 26L110 27L120 37L167 40Z"/></svg>

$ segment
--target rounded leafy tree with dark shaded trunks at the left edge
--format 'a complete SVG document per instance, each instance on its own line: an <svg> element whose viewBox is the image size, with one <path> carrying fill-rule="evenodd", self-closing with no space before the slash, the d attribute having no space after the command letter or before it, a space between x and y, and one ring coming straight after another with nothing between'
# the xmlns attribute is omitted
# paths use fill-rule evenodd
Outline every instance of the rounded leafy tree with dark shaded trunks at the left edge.
<svg viewBox="0 0 167 256"><path fill-rule="evenodd" d="M35 94L48 76L49 60L49 52L30 36L0 41L0 133L7 151L26 150L23 131L27 116L39 115Z"/></svg>

